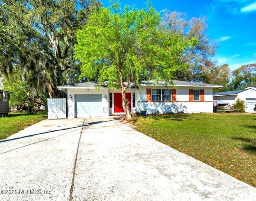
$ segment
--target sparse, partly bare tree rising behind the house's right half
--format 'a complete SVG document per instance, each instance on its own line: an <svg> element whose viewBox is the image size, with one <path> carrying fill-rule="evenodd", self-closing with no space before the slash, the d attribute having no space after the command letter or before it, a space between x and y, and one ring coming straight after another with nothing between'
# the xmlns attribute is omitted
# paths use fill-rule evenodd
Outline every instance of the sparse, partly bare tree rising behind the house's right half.
<svg viewBox="0 0 256 201"><path fill-rule="evenodd" d="M170 32L178 33L181 36L188 37L188 39L198 38L198 43L195 46L186 47L185 51L180 55L182 63L187 63L189 67L182 71L177 70L177 79L208 82L209 79L206 79L206 72L222 73L213 60L217 43L209 41L205 17L188 20L184 13L167 11L164 13L162 25L168 26ZM223 74L219 76L223 76Z"/></svg>

